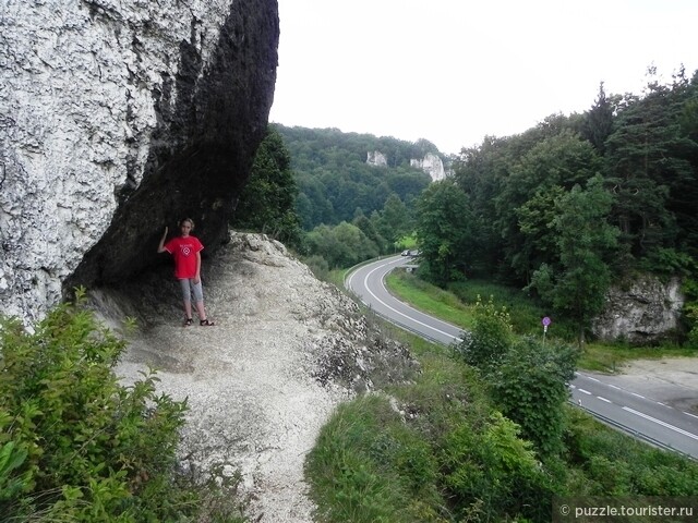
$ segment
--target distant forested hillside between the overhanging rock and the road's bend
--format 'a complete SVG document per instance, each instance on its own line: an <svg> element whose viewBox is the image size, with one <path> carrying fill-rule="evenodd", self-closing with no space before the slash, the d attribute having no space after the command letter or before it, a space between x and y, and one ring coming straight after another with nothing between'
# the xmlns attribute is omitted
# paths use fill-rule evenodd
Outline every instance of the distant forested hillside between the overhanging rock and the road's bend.
<svg viewBox="0 0 698 523"><path fill-rule="evenodd" d="M368 163L373 151L387 165ZM428 153L448 161L425 139L270 125L233 227L284 241L316 272L393 253L413 233L417 198L431 183L410 160Z"/></svg>

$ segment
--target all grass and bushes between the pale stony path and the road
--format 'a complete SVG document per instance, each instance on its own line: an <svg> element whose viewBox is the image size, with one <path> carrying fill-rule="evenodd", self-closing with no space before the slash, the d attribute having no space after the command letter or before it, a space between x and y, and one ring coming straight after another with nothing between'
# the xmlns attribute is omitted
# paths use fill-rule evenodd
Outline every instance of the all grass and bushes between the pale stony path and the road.
<svg viewBox="0 0 698 523"><path fill-rule="evenodd" d="M413 381L344 403L323 427L305 464L318 521L547 522L553 496L695 491L695 462L609 429L551 392L570 376L574 350L516 343L500 367L516 374L506 379L513 385L495 393L496 373L483 376L444 348L411 343L421 368ZM539 379L555 380L551 391L539 391ZM525 438L516 406L506 417L497 410L529 387L518 414L534 419L528 411L537 397L539 411L557 410L539 418L556 428L564 422L556 454Z"/></svg>

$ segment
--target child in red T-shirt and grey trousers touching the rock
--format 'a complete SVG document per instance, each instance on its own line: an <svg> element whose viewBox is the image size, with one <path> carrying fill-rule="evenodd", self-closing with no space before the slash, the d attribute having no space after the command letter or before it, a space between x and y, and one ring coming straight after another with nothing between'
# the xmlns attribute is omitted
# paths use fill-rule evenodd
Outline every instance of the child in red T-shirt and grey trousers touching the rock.
<svg viewBox="0 0 698 523"><path fill-rule="evenodd" d="M165 243L167 239L167 227L157 247L158 253L168 252L174 258L174 278L177 278L182 287L182 297L184 300L184 327L192 325L192 292L194 294L194 304L198 314L198 325L214 325L206 317L204 308L204 290L201 283L201 252L204 246L196 236L192 236L194 230L194 221L185 218L179 222L181 235L171 239Z"/></svg>

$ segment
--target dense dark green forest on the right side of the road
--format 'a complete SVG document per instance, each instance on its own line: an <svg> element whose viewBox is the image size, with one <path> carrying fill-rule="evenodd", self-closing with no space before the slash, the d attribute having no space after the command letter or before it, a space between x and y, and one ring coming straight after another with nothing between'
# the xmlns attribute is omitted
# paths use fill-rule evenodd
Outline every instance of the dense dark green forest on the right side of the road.
<svg viewBox="0 0 698 523"><path fill-rule="evenodd" d="M639 272L683 277L695 301L697 169L697 75L641 96L601 84L583 114L461 150L418 200L422 276L526 288L580 337L609 285Z"/></svg>

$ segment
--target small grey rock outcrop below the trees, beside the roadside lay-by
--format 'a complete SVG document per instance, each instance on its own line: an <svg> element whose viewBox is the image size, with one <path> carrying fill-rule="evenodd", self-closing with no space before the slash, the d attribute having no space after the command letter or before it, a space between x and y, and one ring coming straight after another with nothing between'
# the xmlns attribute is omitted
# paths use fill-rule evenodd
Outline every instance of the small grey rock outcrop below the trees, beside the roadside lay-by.
<svg viewBox="0 0 698 523"><path fill-rule="evenodd" d="M643 344L661 341L678 329L683 306L678 279L663 283L657 278L638 278L627 289L609 292L605 312L595 319L592 330L604 340Z"/></svg>

